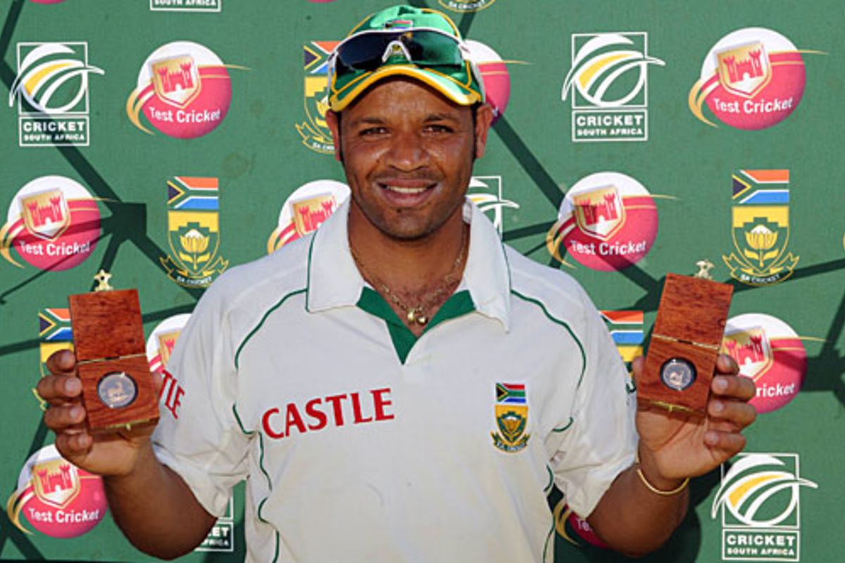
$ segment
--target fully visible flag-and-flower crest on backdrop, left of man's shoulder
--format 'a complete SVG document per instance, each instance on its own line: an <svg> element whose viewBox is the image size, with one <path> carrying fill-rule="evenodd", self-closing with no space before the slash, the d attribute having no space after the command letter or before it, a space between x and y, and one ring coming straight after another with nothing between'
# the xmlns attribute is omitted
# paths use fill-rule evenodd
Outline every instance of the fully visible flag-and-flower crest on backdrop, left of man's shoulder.
<svg viewBox="0 0 845 563"><path fill-rule="evenodd" d="M229 265L220 253L217 178L167 180L167 277L183 287L209 287Z"/></svg>

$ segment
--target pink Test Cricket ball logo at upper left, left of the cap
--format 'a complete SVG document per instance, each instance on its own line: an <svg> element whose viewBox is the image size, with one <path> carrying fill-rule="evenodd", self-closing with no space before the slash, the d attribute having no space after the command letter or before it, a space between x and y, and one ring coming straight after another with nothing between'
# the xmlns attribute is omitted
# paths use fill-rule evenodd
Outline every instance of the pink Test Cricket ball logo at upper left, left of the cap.
<svg viewBox="0 0 845 563"><path fill-rule="evenodd" d="M126 112L135 127L142 123L177 139L209 134L226 118L232 83L225 65L210 49L191 41L160 46L144 61Z"/></svg>

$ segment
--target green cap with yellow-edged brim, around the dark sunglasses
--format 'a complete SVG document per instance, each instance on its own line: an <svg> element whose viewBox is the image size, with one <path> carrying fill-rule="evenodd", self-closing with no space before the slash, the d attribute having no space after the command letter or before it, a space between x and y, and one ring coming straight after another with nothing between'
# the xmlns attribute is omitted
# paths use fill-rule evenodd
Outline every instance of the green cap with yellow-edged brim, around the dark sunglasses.
<svg viewBox="0 0 845 563"><path fill-rule="evenodd" d="M372 70L345 68L338 72L341 66L336 64L335 57L338 57L338 52L352 38L358 38L360 41L359 36L368 34L378 40L379 37L384 37L384 33L399 31L409 36L415 36L416 32L416 36L423 41L423 34L419 33L422 30L433 30L437 36L453 38L454 41L449 39L439 41L438 47L451 49L454 43L455 52L449 54L461 63L458 65L433 64L425 61L415 63L408 60L406 52L396 49L390 52L386 60L379 60L379 66ZM378 56L384 57L384 52L379 52ZM338 44L330 59L329 107L334 112L341 112L370 85L390 76L407 76L417 79L461 106L472 106L484 101L481 75L475 63L469 60L469 48L461 39L461 32L446 14L430 8L393 6L368 16L356 25L346 39Z"/></svg>

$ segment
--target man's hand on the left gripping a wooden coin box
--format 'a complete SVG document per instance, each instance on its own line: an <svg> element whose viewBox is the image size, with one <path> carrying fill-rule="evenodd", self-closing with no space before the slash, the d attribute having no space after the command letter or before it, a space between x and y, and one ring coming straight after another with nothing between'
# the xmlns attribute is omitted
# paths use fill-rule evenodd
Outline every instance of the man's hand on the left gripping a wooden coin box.
<svg viewBox="0 0 845 563"><path fill-rule="evenodd" d="M90 435L85 426L82 381L76 374L76 356L69 350L53 353L46 362L50 374L38 382L38 394L50 407L44 413L47 428L56 433L56 448L77 467L99 475L132 473L139 453L150 448L154 426L131 432ZM161 377L156 377L161 388ZM150 453L145 451L144 453Z"/></svg>

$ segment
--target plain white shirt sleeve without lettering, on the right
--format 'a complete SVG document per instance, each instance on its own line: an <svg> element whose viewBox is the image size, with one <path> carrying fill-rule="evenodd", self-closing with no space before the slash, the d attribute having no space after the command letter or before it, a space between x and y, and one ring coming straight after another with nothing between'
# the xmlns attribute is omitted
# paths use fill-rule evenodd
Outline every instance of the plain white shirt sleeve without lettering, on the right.
<svg viewBox="0 0 845 563"><path fill-rule="evenodd" d="M591 303L585 326L584 373L551 461L555 484L581 517L590 515L613 479L634 462L638 441L633 381Z"/></svg>

